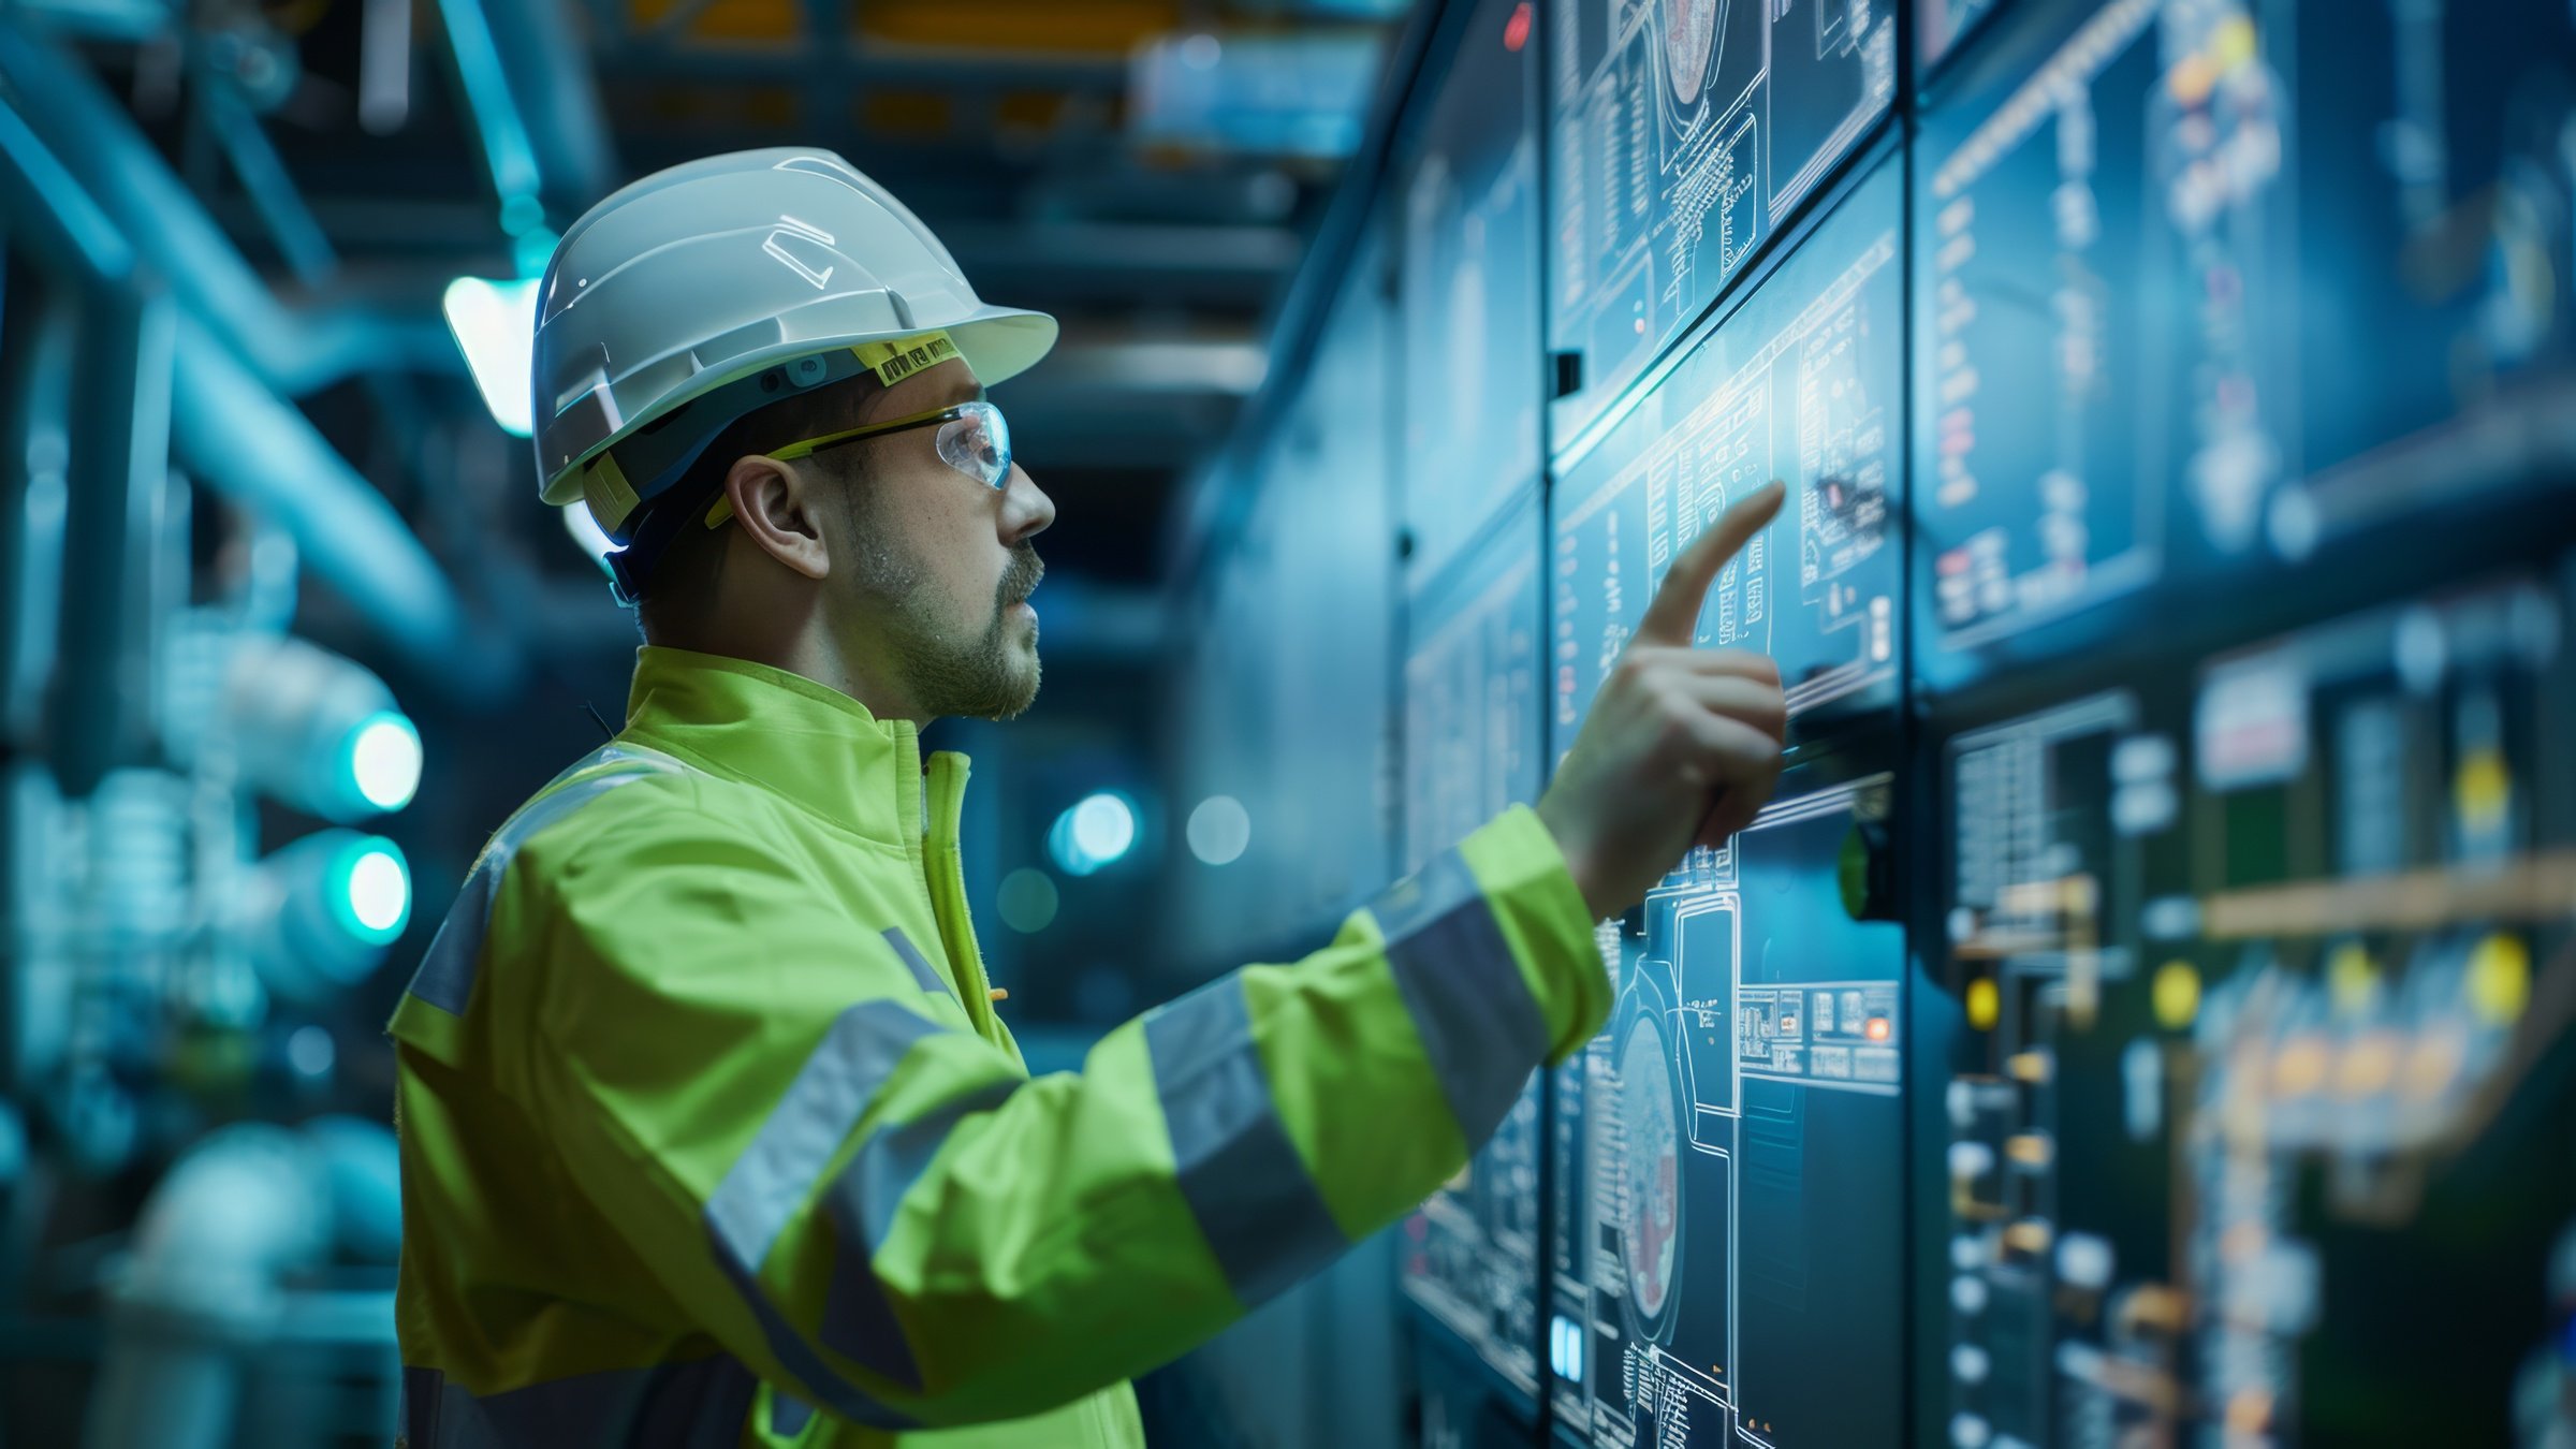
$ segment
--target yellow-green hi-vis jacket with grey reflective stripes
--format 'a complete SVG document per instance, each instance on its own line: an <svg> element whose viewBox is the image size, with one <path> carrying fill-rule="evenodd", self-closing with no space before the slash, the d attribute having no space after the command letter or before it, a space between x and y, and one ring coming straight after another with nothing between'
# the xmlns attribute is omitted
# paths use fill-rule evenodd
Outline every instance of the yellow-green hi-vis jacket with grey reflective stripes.
<svg viewBox="0 0 2576 1449"><path fill-rule="evenodd" d="M410 1449L1136 1446L1131 1374L1422 1201L1607 1013L1512 810L1030 1080L963 789L824 686L641 652L394 1011Z"/></svg>

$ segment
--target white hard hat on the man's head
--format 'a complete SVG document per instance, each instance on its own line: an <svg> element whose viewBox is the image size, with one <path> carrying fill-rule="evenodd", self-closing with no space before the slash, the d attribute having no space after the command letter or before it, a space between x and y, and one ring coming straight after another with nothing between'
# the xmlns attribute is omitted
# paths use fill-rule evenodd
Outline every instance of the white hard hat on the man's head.
<svg viewBox="0 0 2576 1449"><path fill-rule="evenodd" d="M984 384L1056 345L1054 317L987 307L920 217L827 150L657 170L585 211L546 263L531 366L544 498L587 498L626 541L636 508L737 418L855 376L866 343L930 333Z"/></svg>

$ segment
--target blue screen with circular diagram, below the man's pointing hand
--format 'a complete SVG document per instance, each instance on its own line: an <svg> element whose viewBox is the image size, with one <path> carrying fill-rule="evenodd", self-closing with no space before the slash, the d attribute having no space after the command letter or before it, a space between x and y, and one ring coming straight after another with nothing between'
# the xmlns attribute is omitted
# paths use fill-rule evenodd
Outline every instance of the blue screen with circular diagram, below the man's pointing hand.
<svg viewBox="0 0 2576 1449"><path fill-rule="evenodd" d="M1896 1444L1904 931L1891 776L1785 792L1605 923L1610 1029L1558 1073L1553 1410L1577 1441ZM1857 861L1857 866L1855 866Z"/></svg>

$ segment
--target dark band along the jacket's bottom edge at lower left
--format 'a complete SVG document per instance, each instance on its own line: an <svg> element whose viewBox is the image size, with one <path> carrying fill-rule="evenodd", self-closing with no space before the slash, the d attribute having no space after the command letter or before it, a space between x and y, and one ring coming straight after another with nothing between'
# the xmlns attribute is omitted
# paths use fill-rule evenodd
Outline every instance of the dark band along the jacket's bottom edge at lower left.
<svg viewBox="0 0 2576 1449"><path fill-rule="evenodd" d="M438 1369L402 1369L410 1449L732 1449L760 1379L734 1359L605 1369L469 1395Z"/></svg>

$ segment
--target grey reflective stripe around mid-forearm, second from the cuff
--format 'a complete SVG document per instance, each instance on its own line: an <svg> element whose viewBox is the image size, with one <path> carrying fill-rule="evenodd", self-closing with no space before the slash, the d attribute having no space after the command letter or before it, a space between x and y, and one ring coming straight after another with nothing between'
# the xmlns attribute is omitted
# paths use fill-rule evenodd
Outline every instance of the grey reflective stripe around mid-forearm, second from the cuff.
<svg viewBox="0 0 2576 1449"><path fill-rule="evenodd" d="M1151 1011L1144 1047L1180 1196L1244 1307L1350 1245L1278 1119L1239 975Z"/></svg>

